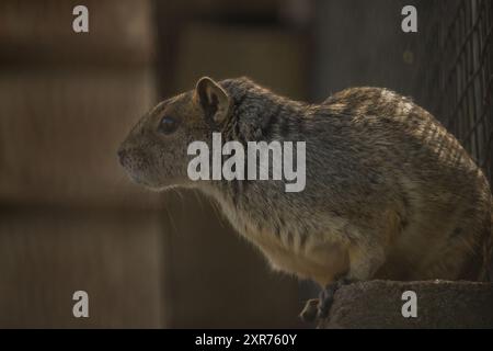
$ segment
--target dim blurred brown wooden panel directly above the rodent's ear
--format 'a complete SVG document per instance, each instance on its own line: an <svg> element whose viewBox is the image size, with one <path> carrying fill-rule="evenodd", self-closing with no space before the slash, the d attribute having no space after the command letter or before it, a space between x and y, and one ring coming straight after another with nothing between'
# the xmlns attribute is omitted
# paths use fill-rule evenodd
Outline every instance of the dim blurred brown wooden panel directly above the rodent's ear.
<svg viewBox="0 0 493 351"><path fill-rule="evenodd" d="M303 99L305 45L301 36L276 29L193 23L179 46L177 90L192 89L202 76L248 76L278 93Z"/></svg>

